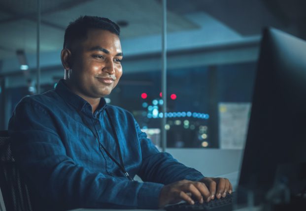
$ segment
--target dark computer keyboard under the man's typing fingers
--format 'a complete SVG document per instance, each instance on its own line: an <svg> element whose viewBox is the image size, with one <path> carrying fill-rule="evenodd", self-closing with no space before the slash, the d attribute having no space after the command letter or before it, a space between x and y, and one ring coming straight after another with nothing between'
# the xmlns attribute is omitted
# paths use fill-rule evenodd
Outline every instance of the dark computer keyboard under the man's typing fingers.
<svg viewBox="0 0 306 211"><path fill-rule="evenodd" d="M226 197L210 200L200 204L196 202L194 205L189 203L181 203L169 205L165 207L166 211L232 211L233 209L233 193L227 194Z"/></svg>

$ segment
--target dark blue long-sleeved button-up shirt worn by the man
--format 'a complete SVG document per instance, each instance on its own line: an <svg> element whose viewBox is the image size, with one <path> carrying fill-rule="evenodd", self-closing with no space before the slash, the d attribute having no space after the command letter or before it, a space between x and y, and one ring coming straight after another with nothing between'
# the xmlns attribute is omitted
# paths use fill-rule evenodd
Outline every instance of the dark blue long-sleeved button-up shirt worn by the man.
<svg viewBox="0 0 306 211"><path fill-rule="evenodd" d="M102 149L120 163L110 121L127 172L144 182L129 181ZM23 98L8 129L34 210L155 209L164 184L204 177L159 152L130 112L101 98L92 114L91 105L72 93L65 80L55 90Z"/></svg>

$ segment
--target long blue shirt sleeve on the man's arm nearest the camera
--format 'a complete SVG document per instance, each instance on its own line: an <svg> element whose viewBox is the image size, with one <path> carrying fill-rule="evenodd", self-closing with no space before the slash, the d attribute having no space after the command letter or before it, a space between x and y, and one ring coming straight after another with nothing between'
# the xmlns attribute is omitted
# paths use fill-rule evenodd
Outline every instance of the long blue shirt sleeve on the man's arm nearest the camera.
<svg viewBox="0 0 306 211"><path fill-rule="evenodd" d="M89 171L67 156L57 129L50 111L33 100L23 100L9 121L13 154L36 203L50 210L158 207L162 184Z"/></svg>

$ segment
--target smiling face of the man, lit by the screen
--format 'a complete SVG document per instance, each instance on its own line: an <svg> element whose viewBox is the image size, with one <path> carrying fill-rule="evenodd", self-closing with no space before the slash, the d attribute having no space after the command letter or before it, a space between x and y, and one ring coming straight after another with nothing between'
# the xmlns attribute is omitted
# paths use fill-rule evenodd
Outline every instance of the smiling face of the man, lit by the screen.
<svg viewBox="0 0 306 211"><path fill-rule="evenodd" d="M71 49L69 85L83 98L110 94L122 75L119 37L107 30L88 30L87 39Z"/></svg>

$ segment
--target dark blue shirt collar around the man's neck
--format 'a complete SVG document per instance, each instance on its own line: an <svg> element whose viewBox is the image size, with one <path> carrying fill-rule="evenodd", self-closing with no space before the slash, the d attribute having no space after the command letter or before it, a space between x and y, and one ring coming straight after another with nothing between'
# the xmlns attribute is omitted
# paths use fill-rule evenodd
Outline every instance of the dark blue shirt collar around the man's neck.
<svg viewBox="0 0 306 211"><path fill-rule="evenodd" d="M79 95L73 93L67 86L66 81L64 79L61 79L56 88L55 91L70 105L72 105L75 109L78 111L85 111L90 112L92 114L92 107L91 105L84 100ZM106 108L106 101L103 97L100 99L99 106L95 113L99 114ZM96 115L97 116L97 115Z"/></svg>

